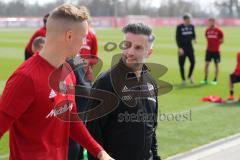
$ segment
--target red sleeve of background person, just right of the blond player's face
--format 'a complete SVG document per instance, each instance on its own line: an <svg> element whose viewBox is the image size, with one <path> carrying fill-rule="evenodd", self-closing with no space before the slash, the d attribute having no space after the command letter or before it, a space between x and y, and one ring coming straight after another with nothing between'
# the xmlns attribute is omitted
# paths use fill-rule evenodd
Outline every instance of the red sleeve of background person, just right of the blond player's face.
<svg viewBox="0 0 240 160"><path fill-rule="evenodd" d="M95 65L98 62L98 42L97 37L94 33L91 33L91 58L88 60L89 65Z"/></svg>

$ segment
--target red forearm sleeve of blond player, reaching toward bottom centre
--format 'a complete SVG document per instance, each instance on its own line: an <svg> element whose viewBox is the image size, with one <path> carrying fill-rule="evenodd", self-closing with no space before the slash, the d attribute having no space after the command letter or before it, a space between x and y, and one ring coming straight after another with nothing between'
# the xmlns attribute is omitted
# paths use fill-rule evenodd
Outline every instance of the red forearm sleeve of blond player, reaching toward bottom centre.
<svg viewBox="0 0 240 160"><path fill-rule="evenodd" d="M97 157L103 148L93 139L82 121L71 122L70 137Z"/></svg>

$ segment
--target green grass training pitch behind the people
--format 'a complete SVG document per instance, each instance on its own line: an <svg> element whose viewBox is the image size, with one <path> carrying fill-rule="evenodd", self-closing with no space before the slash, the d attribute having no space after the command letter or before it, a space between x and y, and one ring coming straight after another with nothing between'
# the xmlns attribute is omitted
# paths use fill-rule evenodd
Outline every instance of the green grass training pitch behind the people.
<svg viewBox="0 0 240 160"><path fill-rule="evenodd" d="M219 84L200 85L204 77L205 38L203 27L197 28L198 43L195 45L196 68L194 72L195 85L182 87L175 44L175 28L156 28L154 34L154 54L149 62L165 65L168 72L162 80L173 84L174 89L159 97L159 113L187 114L191 111L191 120L160 121L157 129L159 153L163 158L192 148L207 144L214 140L240 132L240 103L209 104L201 102L207 95L228 96L228 78L236 65L236 53L240 49L240 29L234 27L223 28L225 42L222 46L222 62ZM24 46L34 30L29 29L0 29L0 93L12 72L23 61ZM102 71L108 69L111 58L120 50L106 52L103 50L107 42L120 43L122 34L120 29L97 30L99 41L99 55L103 60ZM188 68L187 62L185 67ZM213 79L213 64L210 66L209 80ZM236 96L240 95L239 86L235 89ZM1 123L1 122L0 122ZM7 159L9 152L8 135L0 140L0 159ZM4 158L5 157L5 158Z"/></svg>

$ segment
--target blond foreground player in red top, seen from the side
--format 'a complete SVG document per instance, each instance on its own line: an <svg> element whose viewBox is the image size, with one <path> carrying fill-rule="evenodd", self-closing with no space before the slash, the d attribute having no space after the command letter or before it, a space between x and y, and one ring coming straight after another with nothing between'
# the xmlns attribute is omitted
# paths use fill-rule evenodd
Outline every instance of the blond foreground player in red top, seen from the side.
<svg viewBox="0 0 240 160"><path fill-rule="evenodd" d="M100 160L112 159L91 137L82 121L59 119L60 113L76 112L75 99L64 90L75 76L65 63L79 51L87 35L88 13L70 4L51 12L44 48L25 61L9 78L0 99L0 138L9 129L10 159L66 160L69 136ZM62 83L49 81L60 70L68 76ZM61 84L61 85L60 85ZM66 110L67 108L67 110Z"/></svg>

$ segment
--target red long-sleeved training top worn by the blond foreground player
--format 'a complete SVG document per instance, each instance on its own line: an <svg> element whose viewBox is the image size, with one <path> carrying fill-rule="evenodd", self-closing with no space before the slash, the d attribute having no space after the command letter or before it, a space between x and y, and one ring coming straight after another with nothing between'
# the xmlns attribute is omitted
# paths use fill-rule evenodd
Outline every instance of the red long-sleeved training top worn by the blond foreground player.
<svg viewBox="0 0 240 160"><path fill-rule="evenodd" d="M61 67L63 72L71 70L67 64ZM74 95L50 88L49 77L55 70L36 54L7 81L0 99L0 137L10 129L10 160L66 160L69 136L95 156L102 150L82 121L58 117L63 112L76 113L76 105ZM64 83L73 85L70 72Z"/></svg>

